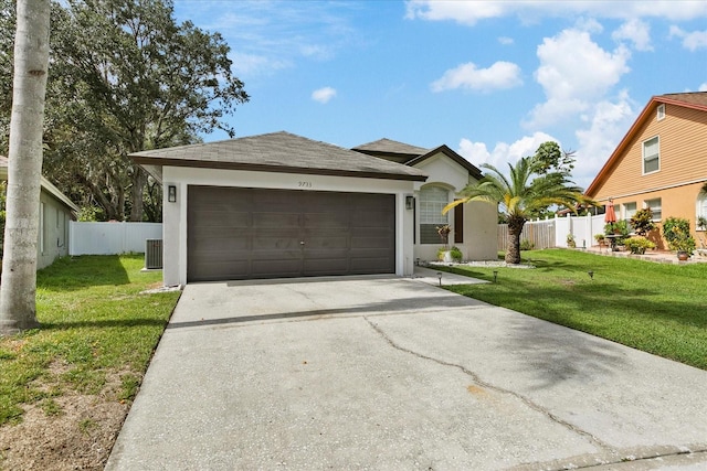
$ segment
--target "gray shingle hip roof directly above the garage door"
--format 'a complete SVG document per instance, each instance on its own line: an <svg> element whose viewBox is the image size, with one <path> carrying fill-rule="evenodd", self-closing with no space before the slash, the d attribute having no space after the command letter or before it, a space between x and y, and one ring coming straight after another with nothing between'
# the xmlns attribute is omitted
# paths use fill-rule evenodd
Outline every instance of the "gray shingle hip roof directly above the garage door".
<svg viewBox="0 0 707 471"><path fill-rule="evenodd" d="M143 165L426 180L419 169L284 131L146 150L133 153L130 158Z"/></svg>

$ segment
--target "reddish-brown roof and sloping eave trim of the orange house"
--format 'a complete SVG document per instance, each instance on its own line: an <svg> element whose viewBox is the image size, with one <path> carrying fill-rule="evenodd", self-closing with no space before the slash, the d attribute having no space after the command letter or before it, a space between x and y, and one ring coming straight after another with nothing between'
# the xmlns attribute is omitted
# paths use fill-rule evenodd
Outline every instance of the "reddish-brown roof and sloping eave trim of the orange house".
<svg viewBox="0 0 707 471"><path fill-rule="evenodd" d="M587 188L587 191L584 192L587 196L595 196L595 193L601 184L611 176L614 167L619 163L622 156L626 152L631 143L634 141L634 139L636 139L648 120L653 118L656 108L661 104L680 106L684 108L707 113L707 92L653 96L647 105L643 108L636 120L633 122L626 135L623 137L621 142L619 142L619 146L616 146L616 149L609 157L599 173L597 173L594 180Z"/></svg>

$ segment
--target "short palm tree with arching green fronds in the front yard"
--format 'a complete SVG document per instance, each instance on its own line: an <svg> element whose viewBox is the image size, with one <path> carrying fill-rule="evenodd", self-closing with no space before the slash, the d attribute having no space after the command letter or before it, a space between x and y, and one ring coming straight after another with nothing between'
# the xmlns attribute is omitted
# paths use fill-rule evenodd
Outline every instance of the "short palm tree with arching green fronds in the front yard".
<svg viewBox="0 0 707 471"><path fill-rule="evenodd" d="M569 180L567 172L542 173L532 157L520 159L515 167L509 163L509 178L494 165L484 163L482 167L488 169L489 173L477 183L467 185L462 191L464 197L447 204L443 213L469 201L499 205L510 235L506 250L507 264L520 263L520 233L526 221L553 204L573 208L578 203L588 202L582 189Z"/></svg>

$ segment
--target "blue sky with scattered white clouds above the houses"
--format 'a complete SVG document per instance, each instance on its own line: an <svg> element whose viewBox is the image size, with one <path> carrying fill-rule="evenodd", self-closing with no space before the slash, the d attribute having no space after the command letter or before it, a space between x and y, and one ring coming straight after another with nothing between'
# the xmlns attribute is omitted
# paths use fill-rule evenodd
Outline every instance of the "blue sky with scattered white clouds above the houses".
<svg viewBox="0 0 707 471"><path fill-rule="evenodd" d="M555 140L582 188L652 96L707 92L704 0L175 0L175 17L230 45L251 97L236 137L446 144L502 171Z"/></svg>

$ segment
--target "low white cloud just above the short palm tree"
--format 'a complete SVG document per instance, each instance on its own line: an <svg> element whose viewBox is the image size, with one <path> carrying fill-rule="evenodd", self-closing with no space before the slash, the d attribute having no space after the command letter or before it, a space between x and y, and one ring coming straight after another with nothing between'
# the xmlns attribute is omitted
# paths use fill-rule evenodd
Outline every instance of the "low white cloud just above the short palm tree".
<svg viewBox="0 0 707 471"><path fill-rule="evenodd" d="M525 136L513 143L497 142L492 151L484 142L473 142L469 139L462 139L457 153L475 165L490 163L502 173L507 174L508 163L515 164L518 160L527 156L534 156L535 151L542 142L556 141L552 136L545 132L535 132L532 136Z"/></svg>

